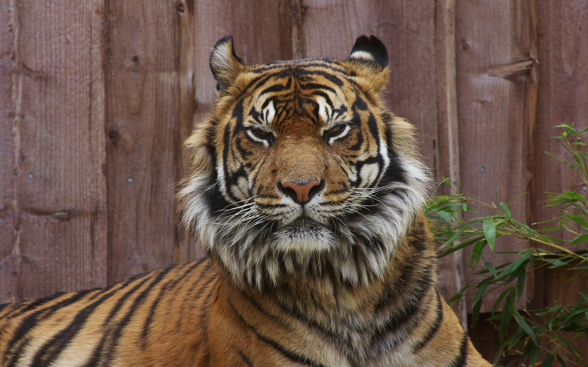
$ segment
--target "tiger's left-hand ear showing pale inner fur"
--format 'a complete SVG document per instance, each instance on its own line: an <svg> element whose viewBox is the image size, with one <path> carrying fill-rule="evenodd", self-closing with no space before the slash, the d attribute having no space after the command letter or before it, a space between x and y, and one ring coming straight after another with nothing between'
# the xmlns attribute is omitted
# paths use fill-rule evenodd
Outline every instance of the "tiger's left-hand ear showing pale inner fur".
<svg viewBox="0 0 588 367"><path fill-rule="evenodd" d="M233 36L224 36L216 41L210 63L212 75L218 82L216 89L219 93L224 93L245 69L243 59L235 52Z"/></svg>

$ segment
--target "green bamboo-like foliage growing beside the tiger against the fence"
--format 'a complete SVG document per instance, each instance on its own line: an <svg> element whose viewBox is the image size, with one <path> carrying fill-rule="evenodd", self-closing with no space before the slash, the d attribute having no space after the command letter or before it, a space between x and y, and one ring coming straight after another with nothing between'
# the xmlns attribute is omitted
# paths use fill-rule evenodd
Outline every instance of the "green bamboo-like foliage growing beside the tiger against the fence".
<svg viewBox="0 0 588 367"><path fill-rule="evenodd" d="M439 257L466 247L472 251L470 265L476 274L475 280L449 302L473 296L470 311L475 324L483 298L489 292L499 294L492 307L492 316L487 319L499 331L500 349L495 363L501 356L514 355L518 357L517 365L552 366L557 361L562 366L588 366L586 356L572 344L581 334L588 336L587 294L579 292L581 299L574 305L560 305L556 300L554 307L523 311L516 307L526 287L527 274L541 268L565 268L570 270L572 279L588 269L588 199L581 193L588 187L588 149L582 142L588 128L576 131L566 124L556 127L563 132L554 139L562 144L567 151L565 155L570 158L546 154L573 170L582 184L579 191L548 193L546 204L553 208L552 219L528 225L513 218L510 203L483 203L463 194L435 196L428 204L427 217L440 243ZM492 214L477 216L472 207L487 207L486 211ZM545 226L549 228L534 229ZM530 247L518 252L501 251L501 241L497 240L500 237L527 241ZM515 260L497 264L492 262L489 253L515 254ZM538 361L540 355L542 361Z"/></svg>

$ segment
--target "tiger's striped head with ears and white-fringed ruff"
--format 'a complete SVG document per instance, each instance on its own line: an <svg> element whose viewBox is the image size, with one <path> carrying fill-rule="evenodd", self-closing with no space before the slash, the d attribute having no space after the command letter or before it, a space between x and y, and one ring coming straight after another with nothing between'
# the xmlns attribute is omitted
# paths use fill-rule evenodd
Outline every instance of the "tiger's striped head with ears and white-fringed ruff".
<svg viewBox="0 0 588 367"><path fill-rule="evenodd" d="M361 36L346 60L246 65L220 39L216 105L186 142L183 221L238 284L382 276L422 211L429 174L413 127L386 109L385 46Z"/></svg>

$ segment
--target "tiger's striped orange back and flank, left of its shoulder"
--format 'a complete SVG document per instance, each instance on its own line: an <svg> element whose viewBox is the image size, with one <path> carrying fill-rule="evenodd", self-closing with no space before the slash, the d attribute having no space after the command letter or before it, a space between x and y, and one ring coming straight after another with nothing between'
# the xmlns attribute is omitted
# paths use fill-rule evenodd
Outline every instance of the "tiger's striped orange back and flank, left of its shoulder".
<svg viewBox="0 0 588 367"><path fill-rule="evenodd" d="M199 335L208 322L206 305L218 287L218 277L216 268L202 260L148 272L105 289L2 305L0 365L196 362L195 346L205 345Z"/></svg>

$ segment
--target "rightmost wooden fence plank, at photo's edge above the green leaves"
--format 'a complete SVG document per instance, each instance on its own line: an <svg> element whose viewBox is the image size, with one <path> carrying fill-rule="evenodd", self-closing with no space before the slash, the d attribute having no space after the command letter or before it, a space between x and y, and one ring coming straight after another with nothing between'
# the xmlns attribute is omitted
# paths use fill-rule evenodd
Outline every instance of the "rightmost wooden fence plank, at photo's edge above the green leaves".
<svg viewBox="0 0 588 367"><path fill-rule="evenodd" d="M537 13L540 89L534 137L533 221L538 222L554 217L553 208L545 207L546 191L577 190L586 196L588 190L574 179L572 170L545 154L549 151L572 159L552 139L562 132L553 126L588 126L588 4L539 1ZM558 235L564 235L563 231Z"/></svg>

